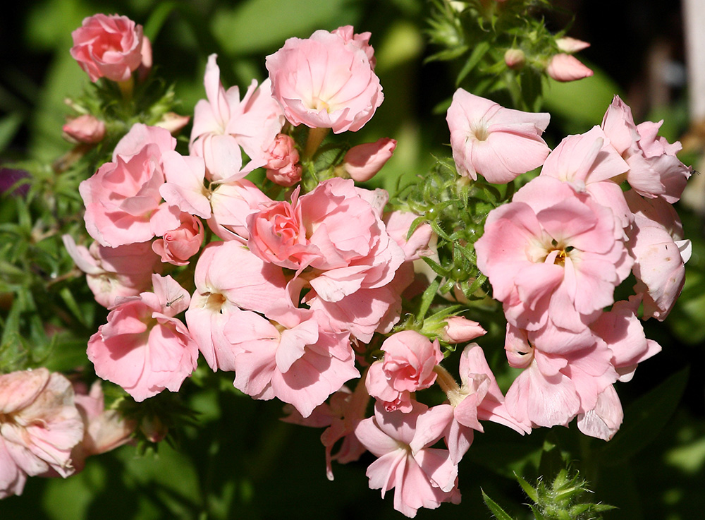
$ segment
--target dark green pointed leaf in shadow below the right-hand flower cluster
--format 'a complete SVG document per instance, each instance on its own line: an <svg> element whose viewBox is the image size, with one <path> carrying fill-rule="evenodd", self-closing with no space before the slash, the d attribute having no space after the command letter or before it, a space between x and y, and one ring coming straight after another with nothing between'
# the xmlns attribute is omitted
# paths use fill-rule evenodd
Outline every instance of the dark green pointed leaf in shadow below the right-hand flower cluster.
<svg viewBox="0 0 705 520"><path fill-rule="evenodd" d="M688 373L686 367L671 375L627 407L622 428L599 451L603 465L623 464L658 436L678 407Z"/></svg>

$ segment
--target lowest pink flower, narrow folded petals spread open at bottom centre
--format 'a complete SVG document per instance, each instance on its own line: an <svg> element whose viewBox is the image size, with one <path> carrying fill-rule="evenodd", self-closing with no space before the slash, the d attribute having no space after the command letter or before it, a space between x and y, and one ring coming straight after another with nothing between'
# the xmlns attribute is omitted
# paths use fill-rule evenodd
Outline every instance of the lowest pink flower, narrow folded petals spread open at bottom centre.
<svg viewBox="0 0 705 520"><path fill-rule="evenodd" d="M360 421L355 435L378 457L367 468L369 487L394 489L394 509L413 518L420 507L460 502L458 466L446 449L431 448L443 436L448 406L429 409L415 402L410 413L386 412L379 403L374 417Z"/></svg>

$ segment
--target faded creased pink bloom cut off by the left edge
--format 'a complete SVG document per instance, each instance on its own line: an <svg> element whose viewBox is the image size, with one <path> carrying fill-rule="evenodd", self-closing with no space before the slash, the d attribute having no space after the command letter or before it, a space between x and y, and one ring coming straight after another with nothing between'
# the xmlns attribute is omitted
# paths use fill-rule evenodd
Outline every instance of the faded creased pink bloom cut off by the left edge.
<svg viewBox="0 0 705 520"><path fill-rule="evenodd" d="M0 375L0 498L20 495L27 476L71 475L82 438L66 377L43 367Z"/></svg>

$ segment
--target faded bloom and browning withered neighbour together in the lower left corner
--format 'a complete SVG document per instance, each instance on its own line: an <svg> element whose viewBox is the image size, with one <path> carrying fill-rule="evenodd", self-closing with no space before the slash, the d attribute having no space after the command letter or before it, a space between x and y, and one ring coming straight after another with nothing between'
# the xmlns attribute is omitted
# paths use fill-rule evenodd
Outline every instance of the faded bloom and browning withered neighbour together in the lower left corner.
<svg viewBox="0 0 705 520"><path fill-rule="evenodd" d="M66 478L131 433L104 410L99 383L87 394L46 368L0 375L0 498L21 495L28 476Z"/></svg>

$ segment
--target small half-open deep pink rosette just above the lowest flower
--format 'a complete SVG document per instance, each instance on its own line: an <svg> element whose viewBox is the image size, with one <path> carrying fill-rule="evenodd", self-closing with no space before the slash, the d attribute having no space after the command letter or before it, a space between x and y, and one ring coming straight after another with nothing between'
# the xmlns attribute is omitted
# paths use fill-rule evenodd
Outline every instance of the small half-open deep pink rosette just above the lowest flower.
<svg viewBox="0 0 705 520"><path fill-rule="evenodd" d="M384 403L386 411L412 411L411 394L434 384L434 367L443 354L433 343L413 330L403 330L384 340L384 359L367 370L365 386L372 397Z"/></svg>

